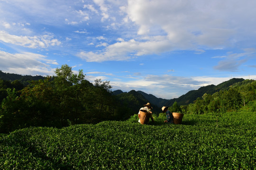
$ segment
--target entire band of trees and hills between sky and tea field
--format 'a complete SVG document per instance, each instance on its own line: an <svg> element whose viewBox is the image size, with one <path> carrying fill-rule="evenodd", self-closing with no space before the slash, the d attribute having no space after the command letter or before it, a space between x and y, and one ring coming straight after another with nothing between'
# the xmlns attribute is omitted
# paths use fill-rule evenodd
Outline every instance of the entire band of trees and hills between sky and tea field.
<svg viewBox="0 0 256 170"><path fill-rule="evenodd" d="M166 100L142 91L112 92L109 81L96 79L91 84L82 70L74 74L68 65L56 68L55 74L28 85L20 80L0 79L0 133L30 126L66 127L126 120L147 102L151 102L156 115L162 112L162 106L169 106L171 111L179 108L185 114L219 114L245 109L243 106L248 106L246 111L256 111L255 80L233 78Z"/></svg>

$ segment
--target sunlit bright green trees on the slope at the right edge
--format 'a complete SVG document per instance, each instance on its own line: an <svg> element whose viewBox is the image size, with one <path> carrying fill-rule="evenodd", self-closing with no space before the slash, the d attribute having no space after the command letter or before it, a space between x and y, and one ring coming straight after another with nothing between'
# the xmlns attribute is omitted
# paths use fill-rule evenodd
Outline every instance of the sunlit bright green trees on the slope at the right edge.
<svg viewBox="0 0 256 170"><path fill-rule="evenodd" d="M187 113L203 114L239 110L243 105L256 100L256 81L245 80L231 86L228 90L220 90L211 94L205 93L187 107Z"/></svg>

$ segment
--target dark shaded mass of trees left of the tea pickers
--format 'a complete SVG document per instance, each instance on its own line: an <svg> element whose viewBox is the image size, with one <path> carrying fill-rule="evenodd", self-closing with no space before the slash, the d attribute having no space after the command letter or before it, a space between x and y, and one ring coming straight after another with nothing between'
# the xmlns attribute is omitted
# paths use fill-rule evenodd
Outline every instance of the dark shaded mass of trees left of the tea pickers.
<svg viewBox="0 0 256 170"><path fill-rule="evenodd" d="M125 120L141 107L136 112L131 110L111 95L109 81L96 79L91 84L82 70L74 74L71 67L63 65L56 68L55 74L20 88L18 80L0 81L0 133L30 126L65 127Z"/></svg>

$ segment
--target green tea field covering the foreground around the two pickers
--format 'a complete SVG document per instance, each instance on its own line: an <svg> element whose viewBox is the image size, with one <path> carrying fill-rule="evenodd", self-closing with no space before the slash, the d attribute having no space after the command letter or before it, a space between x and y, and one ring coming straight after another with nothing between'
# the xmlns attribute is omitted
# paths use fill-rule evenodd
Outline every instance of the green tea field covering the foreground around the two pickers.
<svg viewBox="0 0 256 170"><path fill-rule="evenodd" d="M137 119L0 134L0 169L256 170L256 112Z"/></svg>

